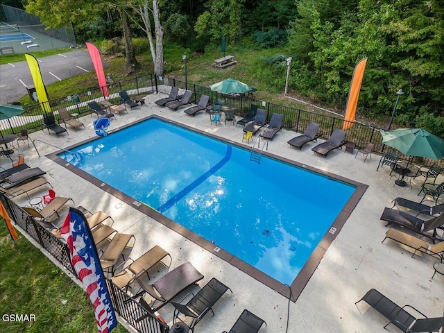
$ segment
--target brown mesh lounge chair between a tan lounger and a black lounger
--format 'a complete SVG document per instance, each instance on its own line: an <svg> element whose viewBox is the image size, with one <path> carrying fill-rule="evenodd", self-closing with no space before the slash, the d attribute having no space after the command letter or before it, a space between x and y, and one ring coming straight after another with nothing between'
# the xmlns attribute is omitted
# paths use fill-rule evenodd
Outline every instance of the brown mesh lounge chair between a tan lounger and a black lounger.
<svg viewBox="0 0 444 333"><path fill-rule="evenodd" d="M153 308L153 311L157 311L164 307L164 305L167 305L178 293L202 279L203 275L194 268L191 262L185 262L185 264L174 268L153 284L144 282L144 280L140 278L140 275L136 275L135 280L139 283L143 291L137 293L134 298L143 296L144 293L149 293L150 296L155 299L153 305L157 300L161 302L160 305Z"/></svg>

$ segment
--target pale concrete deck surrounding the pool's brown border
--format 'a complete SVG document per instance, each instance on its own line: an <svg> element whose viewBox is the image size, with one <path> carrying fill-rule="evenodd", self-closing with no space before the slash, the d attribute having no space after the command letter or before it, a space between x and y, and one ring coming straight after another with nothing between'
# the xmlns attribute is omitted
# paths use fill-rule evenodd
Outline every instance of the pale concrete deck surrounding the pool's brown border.
<svg viewBox="0 0 444 333"><path fill-rule="evenodd" d="M117 115L117 120L111 121L110 129L115 130L150 114L157 114L241 143L241 127L236 128L231 123L225 126L223 122L214 126L210 123L210 116L203 112L190 117L180 109L174 112L154 104L154 101L164 96L146 96L146 105L133 110L128 108L128 114ZM96 137L92 128L94 119L89 115L82 117L80 121L85 123L86 129L74 132L68 128L69 135L57 138L45 130L32 133L31 138L67 148ZM266 321L267 325L260 332L285 332L288 305L288 332L380 332L387 323L386 319L375 310L368 309L364 302L355 306L355 302L372 288L381 291L400 306L413 305L429 317L443 316L444 276L436 274L434 280L431 279L434 273L432 264L437 260L427 256L411 258L411 253L390 240L381 244L388 230L386 223L379 219L384 207L391 207L391 200L398 196L419 201L422 196L416 194L423 178L413 180L413 189L409 186L393 187L395 178L390 179L388 167L376 171L379 155L373 155L372 160L367 158L363 163L362 155L355 159L355 155L344 153L345 149L336 149L324 158L311 151L316 143L306 144L302 151L289 146L287 141L297 134L282 130L269 142L268 152L364 183L368 189L296 302L289 302L288 298L265 284L45 157L58 151L58 148L35 142L40 153L38 157L32 144L28 148L22 143L20 153L24 153L25 162L30 167L40 167L46 171L46 179L51 182L58 196L69 196L76 205L83 205L92 212L102 210L114 218L113 228L117 231L135 234L136 242L131 258L137 259L149 248L159 245L173 257L169 270L189 261L205 275L199 282L200 287L214 277L232 289L232 294L225 293L214 306L215 316L207 314L197 325L196 332L229 330L244 309L249 309ZM10 160L3 157L0 165L7 169ZM437 182L443 180L444 177L440 176ZM30 196L33 198L46 193L47 189L38 189ZM318 200L321 199L322 194L319 194ZM29 201L26 196L13 200L19 205L28 205ZM166 273L167 269L160 268L159 271L157 273L157 270L153 270L151 275L154 279ZM189 289L196 290L198 287ZM176 300L180 300L187 292ZM173 309L167 305L159 311L169 324L173 318ZM400 332L394 325L389 325L386 331Z"/></svg>

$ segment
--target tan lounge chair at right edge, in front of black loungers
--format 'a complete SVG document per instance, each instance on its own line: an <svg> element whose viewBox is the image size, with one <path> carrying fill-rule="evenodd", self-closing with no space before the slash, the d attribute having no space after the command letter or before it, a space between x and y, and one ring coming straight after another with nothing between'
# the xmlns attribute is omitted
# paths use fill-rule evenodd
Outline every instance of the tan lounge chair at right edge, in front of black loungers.
<svg viewBox="0 0 444 333"><path fill-rule="evenodd" d="M426 255L437 257L441 262L444 259L444 241L440 241L438 244L430 244L428 241L392 228L387 230L386 237L384 237L381 243L384 243L386 239L398 241L398 243L404 245L402 248L409 250L413 255L422 256L422 253L425 253ZM413 257L413 255L411 255L411 257Z"/></svg>

